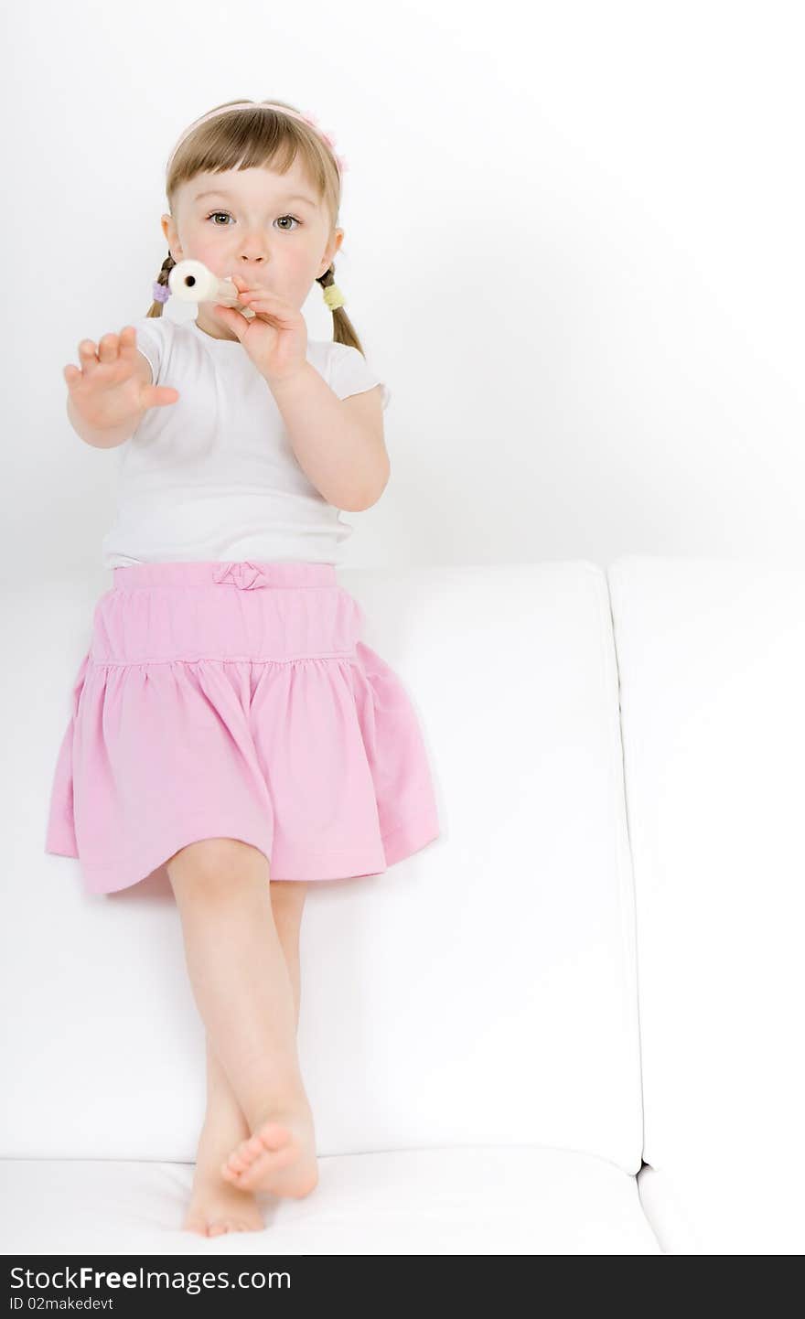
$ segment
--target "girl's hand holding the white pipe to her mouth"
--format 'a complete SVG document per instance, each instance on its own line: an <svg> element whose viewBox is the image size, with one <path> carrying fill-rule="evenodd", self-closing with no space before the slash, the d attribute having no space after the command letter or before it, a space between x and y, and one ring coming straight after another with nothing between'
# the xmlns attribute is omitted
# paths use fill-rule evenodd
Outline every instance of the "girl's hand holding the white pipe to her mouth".
<svg viewBox="0 0 805 1319"><path fill-rule="evenodd" d="M238 335L269 385L289 380L307 364L307 326L301 311L267 289L251 289L240 274L232 276L239 301L255 313L247 319L236 307L212 305L212 315Z"/></svg>

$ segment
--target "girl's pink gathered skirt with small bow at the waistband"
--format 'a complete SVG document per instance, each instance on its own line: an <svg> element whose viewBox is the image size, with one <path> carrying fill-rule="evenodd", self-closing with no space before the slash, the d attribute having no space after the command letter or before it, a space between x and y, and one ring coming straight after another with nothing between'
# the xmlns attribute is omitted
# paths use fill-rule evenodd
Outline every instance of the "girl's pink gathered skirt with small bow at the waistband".
<svg viewBox="0 0 805 1319"><path fill-rule="evenodd" d="M272 880L379 874L439 835L401 681L330 563L116 567L95 605L45 851L90 893L236 838Z"/></svg>

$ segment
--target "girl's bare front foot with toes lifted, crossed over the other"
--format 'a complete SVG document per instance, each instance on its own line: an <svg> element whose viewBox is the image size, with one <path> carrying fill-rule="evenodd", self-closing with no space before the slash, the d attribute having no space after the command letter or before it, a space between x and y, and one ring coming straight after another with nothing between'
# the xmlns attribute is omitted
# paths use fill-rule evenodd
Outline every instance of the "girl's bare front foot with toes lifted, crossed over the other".
<svg viewBox="0 0 805 1319"><path fill-rule="evenodd" d="M318 1184L315 1133L307 1109L274 1111L220 1165L222 1178L245 1191L302 1199Z"/></svg>

